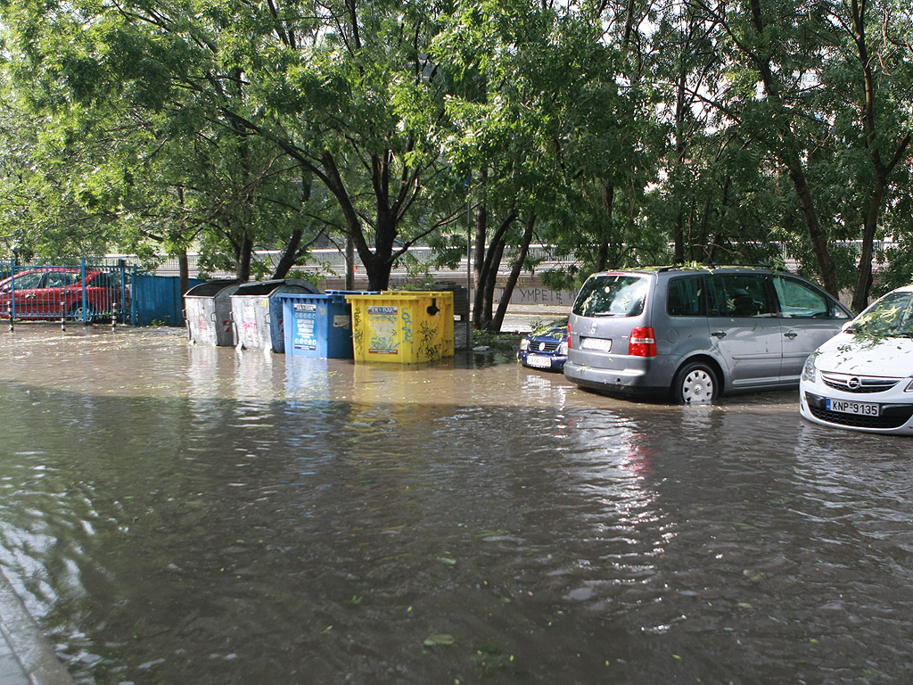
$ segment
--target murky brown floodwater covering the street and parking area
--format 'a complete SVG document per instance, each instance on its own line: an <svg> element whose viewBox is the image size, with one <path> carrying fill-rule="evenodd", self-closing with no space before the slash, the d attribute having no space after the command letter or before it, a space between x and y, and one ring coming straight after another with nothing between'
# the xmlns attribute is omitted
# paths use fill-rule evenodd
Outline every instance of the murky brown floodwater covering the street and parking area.
<svg viewBox="0 0 913 685"><path fill-rule="evenodd" d="M913 441L794 392L37 325L0 402L0 566L80 683L913 681Z"/></svg>

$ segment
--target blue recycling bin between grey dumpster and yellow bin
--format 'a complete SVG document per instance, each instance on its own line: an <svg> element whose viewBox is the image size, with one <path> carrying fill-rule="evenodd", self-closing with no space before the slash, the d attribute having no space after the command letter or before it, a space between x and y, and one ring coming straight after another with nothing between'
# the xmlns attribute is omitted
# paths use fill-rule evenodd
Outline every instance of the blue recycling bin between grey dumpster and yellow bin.
<svg viewBox="0 0 913 685"><path fill-rule="evenodd" d="M376 291L327 290L323 294L282 293L285 352L290 355L352 359L352 305L346 295Z"/></svg>

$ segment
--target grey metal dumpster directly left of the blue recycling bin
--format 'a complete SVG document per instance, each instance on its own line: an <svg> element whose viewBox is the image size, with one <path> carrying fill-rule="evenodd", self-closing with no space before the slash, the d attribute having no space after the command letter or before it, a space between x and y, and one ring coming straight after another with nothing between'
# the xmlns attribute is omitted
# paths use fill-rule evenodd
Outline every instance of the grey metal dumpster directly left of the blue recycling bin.
<svg viewBox="0 0 913 685"><path fill-rule="evenodd" d="M273 350L285 353L285 329L282 321L283 293L318 294L320 290L307 280L257 280L245 283L231 296L234 342L242 350Z"/></svg>

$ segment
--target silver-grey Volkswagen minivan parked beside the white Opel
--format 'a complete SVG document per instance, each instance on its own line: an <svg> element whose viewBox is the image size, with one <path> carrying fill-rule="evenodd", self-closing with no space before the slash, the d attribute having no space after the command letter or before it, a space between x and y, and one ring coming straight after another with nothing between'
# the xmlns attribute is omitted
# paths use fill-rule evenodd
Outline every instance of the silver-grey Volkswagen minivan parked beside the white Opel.
<svg viewBox="0 0 913 685"><path fill-rule="evenodd" d="M574 300L564 375L603 393L680 403L790 387L850 318L824 290L772 269L603 271Z"/></svg>

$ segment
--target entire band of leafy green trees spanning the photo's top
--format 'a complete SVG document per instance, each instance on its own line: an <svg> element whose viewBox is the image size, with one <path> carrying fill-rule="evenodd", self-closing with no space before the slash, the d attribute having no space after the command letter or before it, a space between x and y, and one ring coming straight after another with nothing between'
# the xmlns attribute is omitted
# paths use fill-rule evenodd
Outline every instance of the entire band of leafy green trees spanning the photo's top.
<svg viewBox="0 0 913 685"><path fill-rule="evenodd" d="M385 288L411 246L453 262L468 241L476 324L498 328L501 262L508 296L535 242L575 259L547 275L564 286L785 247L856 308L873 258L913 244L902 0L0 0L0 19L20 258L193 245L247 279L255 248L281 276L326 235Z"/></svg>

